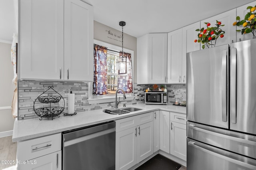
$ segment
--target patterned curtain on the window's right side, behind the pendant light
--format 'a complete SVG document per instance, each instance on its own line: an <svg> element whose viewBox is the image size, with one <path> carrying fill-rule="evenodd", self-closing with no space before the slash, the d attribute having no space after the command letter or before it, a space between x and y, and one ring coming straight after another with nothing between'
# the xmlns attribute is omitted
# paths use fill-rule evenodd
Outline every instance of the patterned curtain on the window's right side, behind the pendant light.
<svg viewBox="0 0 256 170"><path fill-rule="evenodd" d="M118 75L117 87L123 89L125 93L132 93L132 57L130 53L122 53L119 57L126 57L126 74ZM121 92L119 92L121 93Z"/></svg>

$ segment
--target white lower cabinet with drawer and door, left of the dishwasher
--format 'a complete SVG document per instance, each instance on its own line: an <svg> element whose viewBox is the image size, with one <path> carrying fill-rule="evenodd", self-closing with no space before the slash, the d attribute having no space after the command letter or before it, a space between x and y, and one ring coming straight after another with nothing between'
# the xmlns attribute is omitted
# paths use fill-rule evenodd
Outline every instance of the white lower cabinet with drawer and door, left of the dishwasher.
<svg viewBox="0 0 256 170"><path fill-rule="evenodd" d="M18 170L61 170L61 133L19 141Z"/></svg>

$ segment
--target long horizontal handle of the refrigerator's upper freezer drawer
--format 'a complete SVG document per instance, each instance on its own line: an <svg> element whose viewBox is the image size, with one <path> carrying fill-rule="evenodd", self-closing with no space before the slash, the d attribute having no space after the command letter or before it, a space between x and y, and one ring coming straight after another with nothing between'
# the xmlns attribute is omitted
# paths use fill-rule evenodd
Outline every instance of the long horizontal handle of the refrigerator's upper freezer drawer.
<svg viewBox="0 0 256 170"><path fill-rule="evenodd" d="M188 125L188 128L191 128L191 129L194 129L194 130L197 130L197 131L200 131L200 132L204 132L204 133L207 133L207 134L211 134L213 136L218 136L218 137L221 137L221 138L234 140L234 141L237 141L237 142L241 142L241 143L245 143L245 144L248 144L248 145L256 146L256 141L252 141L252 140L249 140L249 139L246 140L246 139L237 138L237 137L234 137L234 136L229 136L229 135L226 135L226 134L221 134L221 133L218 133L218 132L213 132L213 131L206 130L206 129L203 129L203 128L200 128L200 127L196 127L195 125Z"/></svg>

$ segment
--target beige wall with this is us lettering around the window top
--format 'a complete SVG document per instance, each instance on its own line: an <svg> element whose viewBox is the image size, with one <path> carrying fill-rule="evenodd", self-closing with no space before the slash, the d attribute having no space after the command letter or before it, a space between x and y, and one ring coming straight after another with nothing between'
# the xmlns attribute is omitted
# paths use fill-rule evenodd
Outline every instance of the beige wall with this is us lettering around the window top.
<svg viewBox="0 0 256 170"><path fill-rule="evenodd" d="M119 23L116 23L119 25ZM125 32L125 26L124 26ZM94 39L122 47L122 27L120 31L94 21ZM137 83L137 38L124 33L124 48L134 51L134 83Z"/></svg>

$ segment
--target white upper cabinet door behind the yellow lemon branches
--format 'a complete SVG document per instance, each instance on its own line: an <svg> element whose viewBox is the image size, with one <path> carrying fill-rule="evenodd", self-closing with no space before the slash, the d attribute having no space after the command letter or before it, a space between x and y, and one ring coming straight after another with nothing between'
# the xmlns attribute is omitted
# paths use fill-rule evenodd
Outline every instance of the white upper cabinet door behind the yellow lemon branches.
<svg viewBox="0 0 256 170"><path fill-rule="evenodd" d="M255 6L256 2L251 2L249 4L246 4L244 6L240 6L236 8L236 16L240 16L240 20L244 20L244 16L247 14L247 12L250 12L250 9L246 9L248 6ZM236 18L234 18L233 22L236 21ZM242 30L243 26L232 26L234 30ZM243 34L241 32L236 32L236 42L244 41L244 40L250 40L252 39L253 35L252 33L249 34Z"/></svg>

